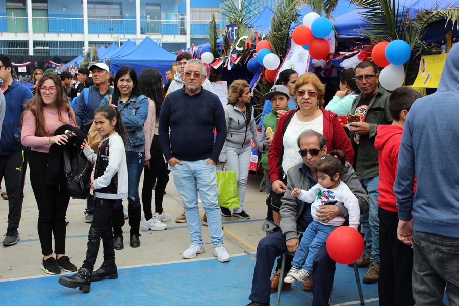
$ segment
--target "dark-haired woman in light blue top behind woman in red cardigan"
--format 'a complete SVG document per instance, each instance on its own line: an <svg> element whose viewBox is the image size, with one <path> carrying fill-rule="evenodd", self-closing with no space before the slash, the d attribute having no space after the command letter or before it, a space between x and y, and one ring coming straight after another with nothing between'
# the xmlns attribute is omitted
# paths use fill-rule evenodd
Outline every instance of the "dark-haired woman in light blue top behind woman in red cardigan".
<svg viewBox="0 0 459 306"><path fill-rule="evenodd" d="M359 88L355 84L355 69L342 70L340 73L340 90L328 102L325 109L338 115L339 113L350 114L352 102L359 93Z"/></svg>

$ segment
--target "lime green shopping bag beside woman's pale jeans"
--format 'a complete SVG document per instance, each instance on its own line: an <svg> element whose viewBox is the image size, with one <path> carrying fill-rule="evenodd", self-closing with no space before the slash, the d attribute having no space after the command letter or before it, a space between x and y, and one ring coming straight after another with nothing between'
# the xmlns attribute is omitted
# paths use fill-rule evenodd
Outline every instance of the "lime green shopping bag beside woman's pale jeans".
<svg viewBox="0 0 459 306"><path fill-rule="evenodd" d="M225 165L217 171L218 206L226 208L239 207L238 182L236 172Z"/></svg>

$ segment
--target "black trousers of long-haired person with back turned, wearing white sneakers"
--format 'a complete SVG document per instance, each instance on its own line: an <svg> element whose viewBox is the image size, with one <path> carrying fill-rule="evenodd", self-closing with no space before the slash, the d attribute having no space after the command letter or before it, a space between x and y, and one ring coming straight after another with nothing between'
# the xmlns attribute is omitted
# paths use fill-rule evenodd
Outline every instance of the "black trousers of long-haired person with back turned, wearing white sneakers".
<svg viewBox="0 0 459 306"><path fill-rule="evenodd" d="M164 162L163 150L161 149L158 135L153 137L150 154L150 168L145 167L143 172L142 203L145 220L150 220L153 217L151 198L155 182L155 212L159 214L163 213L164 190L166 190L169 182L169 174L167 173L167 166Z"/></svg>

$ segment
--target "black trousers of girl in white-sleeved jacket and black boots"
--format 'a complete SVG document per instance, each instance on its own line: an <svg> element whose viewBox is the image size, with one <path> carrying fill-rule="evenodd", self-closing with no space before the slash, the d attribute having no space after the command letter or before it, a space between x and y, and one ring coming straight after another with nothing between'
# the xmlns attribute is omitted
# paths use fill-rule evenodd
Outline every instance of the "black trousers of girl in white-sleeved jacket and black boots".
<svg viewBox="0 0 459 306"><path fill-rule="evenodd" d="M88 250L83 268L94 269L97 254L100 248L100 239L104 248L104 261L115 259L115 248L113 246L112 232L112 211L116 200L95 199L94 217L88 234Z"/></svg>

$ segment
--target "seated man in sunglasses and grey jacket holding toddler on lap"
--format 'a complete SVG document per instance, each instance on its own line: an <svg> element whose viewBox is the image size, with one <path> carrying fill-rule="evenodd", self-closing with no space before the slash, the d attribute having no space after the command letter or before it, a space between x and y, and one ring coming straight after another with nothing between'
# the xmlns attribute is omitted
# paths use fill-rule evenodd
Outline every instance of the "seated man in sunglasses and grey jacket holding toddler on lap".
<svg viewBox="0 0 459 306"><path fill-rule="evenodd" d="M271 282L269 277L277 256L284 252L295 252L298 245L298 232L304 232L312 221L311 204L291 196L294 187L304 190L317 184L316 161L326 154L327 146L325 137L313 130L303 131L298 139L299 155L302 162L292 166L287 171L287 188L282 198L281 231L266 236L258 243L257 261L253 272L252 290L248 305L269 305ZM341 179L359 200L361 213L368 211L368 196L357 179L354 169L349 162L345 164L345 173ZM337 203L337 212L333 215L320 217L324 222L336 216L348 218L346 208L342 203ZM286 271L290 269L287 264ZM328 256L326 245L318 252L314 260L314 289L313 305L326 305L333 286L335 262Z"/></svg>

